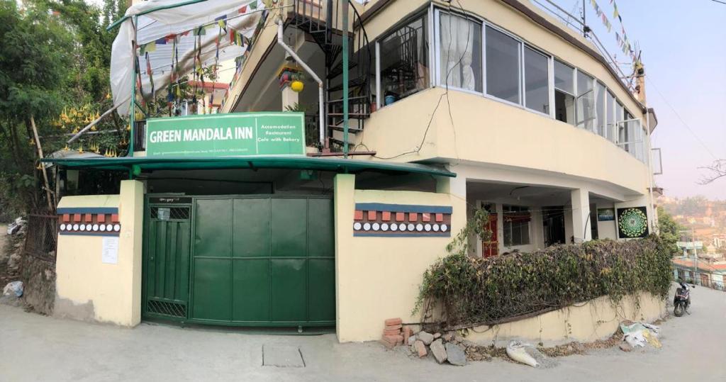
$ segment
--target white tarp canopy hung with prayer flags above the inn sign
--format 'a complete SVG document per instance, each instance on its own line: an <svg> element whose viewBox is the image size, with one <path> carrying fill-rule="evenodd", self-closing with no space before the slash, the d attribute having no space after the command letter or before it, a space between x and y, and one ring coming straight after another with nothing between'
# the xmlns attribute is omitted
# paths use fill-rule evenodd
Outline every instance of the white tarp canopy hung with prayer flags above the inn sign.
<svg viewBox="0 0 726 382"><path fill-rule="evenodd" d="M155 44L155 51L149 52L149 62L155 91L165 89L172 73L174 39L176 36L176 60L181 76L194 70L195 40L200 44L202 65L207 66L215 61L222 62L238 57L247 49L249 38L253 36L261 12L265 5L261 0L149 0L139 1L126 10L126 16L113 41L111 49L111 92L113 103L118 105L120 115L128 115L131 97L131 86L134 62L134 25L133 16L138 16L137 45ZM218 25L223 18L225 29ZM204 34L195 36L194 30L209 25ZM229 32L235 31L245 36L243 46L233 44ZM220 37L221 33L221 37ZM216 40L219 38L219 57ZM152 49L147 49L147 51ZM138 54L138 51L136 52ZM142 74L142 92L151 96L151 81L147 73L147 60L139 57L139 70ZM137 89L138 91L138 89Z"/></svg>

